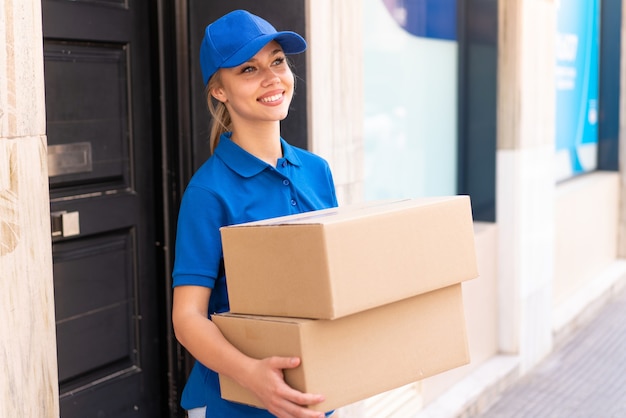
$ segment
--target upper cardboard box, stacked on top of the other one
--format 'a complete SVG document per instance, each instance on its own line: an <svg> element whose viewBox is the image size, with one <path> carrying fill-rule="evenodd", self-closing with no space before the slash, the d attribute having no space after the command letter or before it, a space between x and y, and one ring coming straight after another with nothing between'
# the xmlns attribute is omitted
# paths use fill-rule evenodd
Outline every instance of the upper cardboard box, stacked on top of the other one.
<svg viewBox="0 0 626 418"><path fill-rule="evenodd" d="M230 311L333 319L478 276L468 196L221 229Z"/></svg>

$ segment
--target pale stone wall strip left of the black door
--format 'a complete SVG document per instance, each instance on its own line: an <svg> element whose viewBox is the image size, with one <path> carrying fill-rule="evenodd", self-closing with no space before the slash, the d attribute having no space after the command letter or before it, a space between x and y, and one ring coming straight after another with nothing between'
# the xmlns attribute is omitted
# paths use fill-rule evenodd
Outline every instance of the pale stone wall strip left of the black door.
<svg viewBox="0 0 626 418"><path fill-rule="evenodd" d="M59 416L41 2L0 3L0 416Z"/></svg>

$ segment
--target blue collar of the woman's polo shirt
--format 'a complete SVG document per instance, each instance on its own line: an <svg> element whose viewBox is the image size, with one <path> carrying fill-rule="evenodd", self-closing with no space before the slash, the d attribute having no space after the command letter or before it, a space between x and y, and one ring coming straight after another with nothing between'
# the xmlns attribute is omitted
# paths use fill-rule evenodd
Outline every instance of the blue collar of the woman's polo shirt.
<svg viewBox="0 0 626 418"><path fill-rule="evenodd" d="M231 170L235 171L242 177L253 177L261 171L270 167L265 161L262 161L250 154L248 151L235 144L231 139L232 133L225 132L220 137L220 141L215 148L215 155L220 158ZM300 166L301 161L294 151L293 147L284 139L280 139L283 148L283 159L291 165Z"/></svg>

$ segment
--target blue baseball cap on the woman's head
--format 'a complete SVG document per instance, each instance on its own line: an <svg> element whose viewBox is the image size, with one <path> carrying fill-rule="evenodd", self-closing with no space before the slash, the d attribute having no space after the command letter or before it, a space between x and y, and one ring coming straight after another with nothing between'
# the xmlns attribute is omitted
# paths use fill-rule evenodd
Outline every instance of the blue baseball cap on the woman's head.
<svg viewBox="0 0 626 418"><path fill-rule="evenodd" d="M270 41L276 41L285 54L298 54L306 41L295 32L278 32L269 22L246 10L230 12L206 27L200 45L200 67L204 84L220 68L231 68L248 61Z"/></svg>

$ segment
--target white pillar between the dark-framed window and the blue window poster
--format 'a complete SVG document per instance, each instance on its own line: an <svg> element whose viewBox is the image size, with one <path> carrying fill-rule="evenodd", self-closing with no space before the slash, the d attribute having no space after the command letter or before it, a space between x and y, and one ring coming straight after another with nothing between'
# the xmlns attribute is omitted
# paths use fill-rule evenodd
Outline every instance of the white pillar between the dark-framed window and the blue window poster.
<svg viewBox="0 0 626 418"><path fill-rule="evenodd" d="M549 0L498 7L499 341L524 372L552 349L556 15Z"/></svg>

